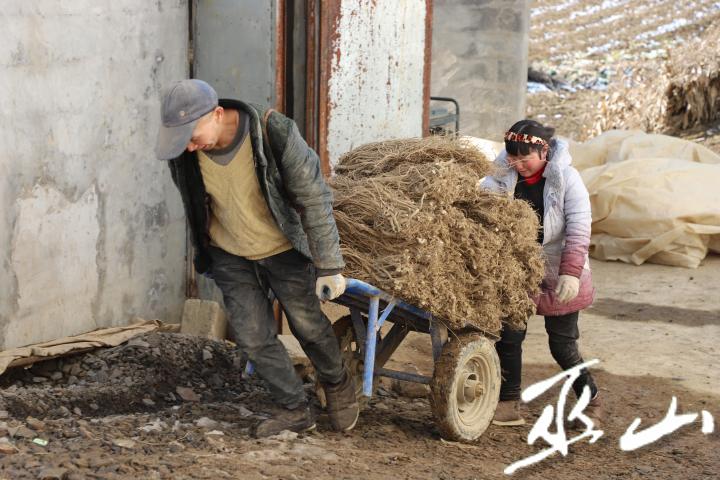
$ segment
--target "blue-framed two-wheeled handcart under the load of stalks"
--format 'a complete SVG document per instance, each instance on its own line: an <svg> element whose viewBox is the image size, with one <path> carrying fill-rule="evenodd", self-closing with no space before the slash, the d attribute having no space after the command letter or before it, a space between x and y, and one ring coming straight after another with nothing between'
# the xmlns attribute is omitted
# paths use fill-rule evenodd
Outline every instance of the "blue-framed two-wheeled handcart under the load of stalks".
<svg viewBox="0 0 720 480"><path fill-rule="evenodd" d="M435 423L444 438L468 442L483 434L500 395L496 336L472 327L452 331L430 313L352 278L347 279L345 293L333 301L350 309L350 315L336 321L333 328L346 366L356 375L359 399L372 396L375 377L426 384ZM381 336L386 321L393 326ZM413 331L430 334L432 377L384 368Z"/></svg>

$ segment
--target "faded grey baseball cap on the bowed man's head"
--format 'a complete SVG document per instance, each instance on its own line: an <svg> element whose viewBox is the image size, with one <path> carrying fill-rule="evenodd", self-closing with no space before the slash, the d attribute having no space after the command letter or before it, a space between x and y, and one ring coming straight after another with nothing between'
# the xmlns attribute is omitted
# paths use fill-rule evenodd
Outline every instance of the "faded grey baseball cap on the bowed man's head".
<svg viewBox="0 0 720 480"><path fill-rule="evenodd" d="M179 156L190 142L198 120L217 106L217 93L202 80L181 80L165 89L155 155L160 160Z"/></svg>

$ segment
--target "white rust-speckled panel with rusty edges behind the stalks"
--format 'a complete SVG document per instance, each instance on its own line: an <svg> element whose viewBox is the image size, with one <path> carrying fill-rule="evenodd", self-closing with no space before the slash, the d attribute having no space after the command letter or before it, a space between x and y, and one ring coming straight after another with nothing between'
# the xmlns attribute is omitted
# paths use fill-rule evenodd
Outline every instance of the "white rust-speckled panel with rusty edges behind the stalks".
<svg viewBox="0 0 720 480"><path fill-rule="evenodd" d="M364 143L423 134L425 0L342 0L328 85L330 164Z"/></svg>

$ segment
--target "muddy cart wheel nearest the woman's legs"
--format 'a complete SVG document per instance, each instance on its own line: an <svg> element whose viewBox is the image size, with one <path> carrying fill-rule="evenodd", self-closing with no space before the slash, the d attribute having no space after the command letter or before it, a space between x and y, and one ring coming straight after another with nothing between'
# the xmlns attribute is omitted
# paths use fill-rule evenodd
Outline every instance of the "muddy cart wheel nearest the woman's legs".
<svg viewBox="0 0 720 480"><path fill-rule="evenodd" d="M480 437L499 395L500 360L493 342L477 334L451 338L430 382L430 406L443 438L471 442Z"/></svg>

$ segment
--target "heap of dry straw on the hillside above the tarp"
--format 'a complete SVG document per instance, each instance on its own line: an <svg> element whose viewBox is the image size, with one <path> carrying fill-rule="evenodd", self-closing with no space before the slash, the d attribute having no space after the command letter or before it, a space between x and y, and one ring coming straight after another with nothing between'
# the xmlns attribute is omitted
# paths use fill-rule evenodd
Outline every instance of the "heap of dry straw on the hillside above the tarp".
<svg viewBox="0 0 720 480"><path fill-rule="evenodd" d="M596 131L679 133L720 119L720 25L671 53L666 63L633 68L601 105Z"/></svg>

